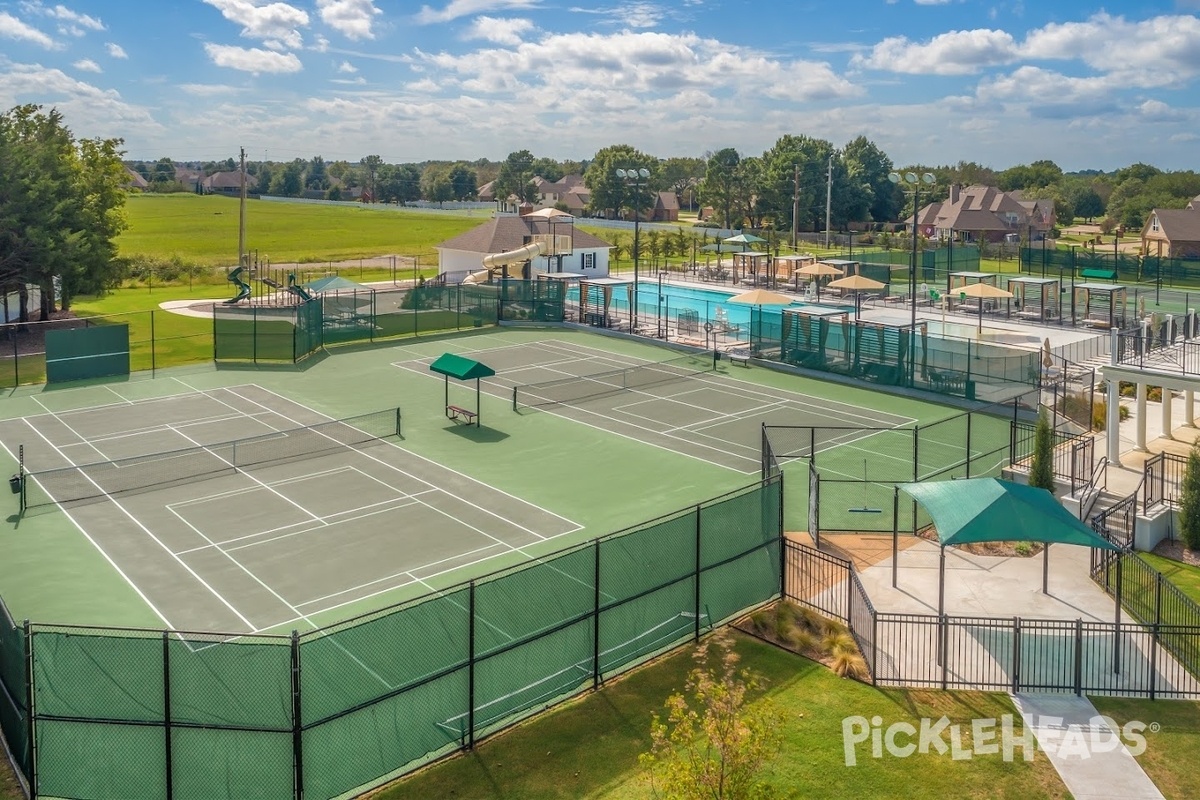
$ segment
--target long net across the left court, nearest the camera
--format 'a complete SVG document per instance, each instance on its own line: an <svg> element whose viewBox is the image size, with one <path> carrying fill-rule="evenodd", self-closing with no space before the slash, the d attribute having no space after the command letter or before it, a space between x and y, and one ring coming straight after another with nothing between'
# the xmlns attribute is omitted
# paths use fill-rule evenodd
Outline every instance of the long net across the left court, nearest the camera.
<svg viewBox="0 0 1200 800"><path fill-rule="evenodd" d="M212 445L26 473L22 505L78 504L206 481L248 467L316 458L400 433L400 409L395 408Z"/></svg>

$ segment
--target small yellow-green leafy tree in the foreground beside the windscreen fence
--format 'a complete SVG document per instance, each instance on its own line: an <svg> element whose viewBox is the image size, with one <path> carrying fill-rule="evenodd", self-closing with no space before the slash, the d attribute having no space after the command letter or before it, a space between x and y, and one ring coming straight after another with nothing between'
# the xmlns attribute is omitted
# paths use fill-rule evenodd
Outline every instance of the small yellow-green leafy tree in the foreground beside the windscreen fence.
<svg viewBox="0 0 1200 800"><path fill-rule="evenodd" d="M710 648L719 664L709 663ZM758 679L738 669L728 628L696 648L684 691L667 698L667 718L654 716L652 748L640 760L656 796L679 800L749 800L762 796L760 772L775 754L781 720L766 700L746 694Z"/></svg>

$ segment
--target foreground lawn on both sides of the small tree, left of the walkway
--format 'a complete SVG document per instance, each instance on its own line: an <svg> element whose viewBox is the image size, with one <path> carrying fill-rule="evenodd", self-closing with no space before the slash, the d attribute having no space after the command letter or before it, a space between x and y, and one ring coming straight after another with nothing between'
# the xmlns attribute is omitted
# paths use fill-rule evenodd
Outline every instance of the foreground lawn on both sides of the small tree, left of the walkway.
<svg viewBox="0 0 1200 800"><path fill-rule="evenodd" d="M779 796L1068 796L1042 753L1032 763L1020 758L1004 763L1000 756L953 760L936 753L872 759L864 744L858 747L858 764L845 765L841 721L847 715L878 715L887 726L898 721L919 724L922 717L937 720L944 714L966 722L970 736L970 720L1014 712L1003 694L882 691L840 679L816 662L742 634L737 649L743 664L767 679L767 693L784 715L784 744L768 774ZM692 666L690 651L685 648L372 798L650 798L637 756L650 746L650 715L682 688Z"/></svg>

